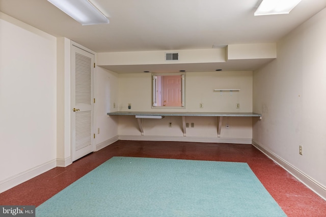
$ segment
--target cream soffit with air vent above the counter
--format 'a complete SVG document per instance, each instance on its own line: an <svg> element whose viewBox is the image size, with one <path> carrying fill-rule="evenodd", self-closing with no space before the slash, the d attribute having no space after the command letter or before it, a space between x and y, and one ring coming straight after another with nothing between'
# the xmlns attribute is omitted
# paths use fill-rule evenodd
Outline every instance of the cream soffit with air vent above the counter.
<svg viewBox="0 0 326 217"><path fill-rule="evenodd" d="M167 52L178 60L165 60ZM276 43L228 45L225 48L97 53L97 66L123 73L254 71L276 58Z"/></svg>

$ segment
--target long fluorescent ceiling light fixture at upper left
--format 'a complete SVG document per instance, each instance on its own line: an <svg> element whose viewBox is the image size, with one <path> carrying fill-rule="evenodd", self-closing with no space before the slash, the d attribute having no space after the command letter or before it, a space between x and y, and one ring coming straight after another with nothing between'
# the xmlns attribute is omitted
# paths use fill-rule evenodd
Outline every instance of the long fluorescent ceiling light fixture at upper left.
<svg viewBox="0 0 326 217"><path fill-rule="evenodd" d="M57 8L68 14L82 25L109 23L104 16L88 0L47 0Z"/></svg>

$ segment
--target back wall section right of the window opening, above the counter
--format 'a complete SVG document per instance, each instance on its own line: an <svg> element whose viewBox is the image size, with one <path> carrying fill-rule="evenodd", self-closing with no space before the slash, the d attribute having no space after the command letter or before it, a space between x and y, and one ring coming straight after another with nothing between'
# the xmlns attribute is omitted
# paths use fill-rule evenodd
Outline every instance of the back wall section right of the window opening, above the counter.
<svg viewBox="0 0 326 217"><path fill-rule="evenodd" d="M240 89L214 92L213 89ZM198 112L252 112L252 72L198 72L186 74L186 109ZM203 103L204 108L199 108ZM240 103L240 108L236 108Z"/></svg>

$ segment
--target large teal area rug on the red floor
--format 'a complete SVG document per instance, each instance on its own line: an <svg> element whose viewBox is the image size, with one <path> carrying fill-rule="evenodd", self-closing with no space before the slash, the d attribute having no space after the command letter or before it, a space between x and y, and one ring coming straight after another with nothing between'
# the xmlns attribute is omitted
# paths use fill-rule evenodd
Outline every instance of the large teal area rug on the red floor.
<svg viewBox="0 0 326 217"><path fill-rule="evenodd" d="M247 163L114 157L36 216L286 216Z"/></svg>

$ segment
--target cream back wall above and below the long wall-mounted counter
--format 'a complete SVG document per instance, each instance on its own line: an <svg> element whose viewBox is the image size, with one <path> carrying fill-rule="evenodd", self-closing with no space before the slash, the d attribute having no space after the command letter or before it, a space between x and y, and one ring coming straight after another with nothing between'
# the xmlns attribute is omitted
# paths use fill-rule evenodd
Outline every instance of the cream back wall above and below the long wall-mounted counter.
<svg viewBox="0 0 326 217"><path fill-rule="evenodd" d="M214 92L213 89L240 89L239 92ZM128 109L131 103L131 109ZM204 108L199 108L203 103ZM240 109L236 109L240 103ZM150 73L119 74L119 111L179 111L179 112L252 112L252 72L197 72L185 75L185 108L151 108L152 79ZM181 117L143 120L144 136L140 136L134 116L119 117L119 135L122 139L234 142L250 143L252 118L225 117L223 129L217 136L216 117L186 117L195 128L186 129L183 137ZM172 122L172 128L168 123ZM139 136L139 137L138 137Z"/></svg>

